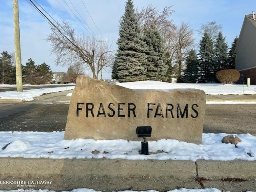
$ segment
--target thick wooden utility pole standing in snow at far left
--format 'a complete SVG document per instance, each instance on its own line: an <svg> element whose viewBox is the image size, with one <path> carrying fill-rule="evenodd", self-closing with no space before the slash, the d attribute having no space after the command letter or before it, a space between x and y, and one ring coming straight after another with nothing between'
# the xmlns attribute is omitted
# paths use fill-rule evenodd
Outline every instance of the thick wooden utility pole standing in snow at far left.
<svg viewBox="0 0 256 192"><path fill-rule="evenodd" d="M19 5L18 0L13 0L13 20L14 20L14 53L16 66L16 86L17 91L23 91L22 87L22 70L20 55L20 22L19 22Z"/></svg>

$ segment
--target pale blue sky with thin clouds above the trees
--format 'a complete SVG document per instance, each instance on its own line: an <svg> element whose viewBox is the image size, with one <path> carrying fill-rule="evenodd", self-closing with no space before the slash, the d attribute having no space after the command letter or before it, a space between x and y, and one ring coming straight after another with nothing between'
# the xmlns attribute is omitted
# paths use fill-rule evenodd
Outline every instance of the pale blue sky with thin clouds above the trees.
<svg viewBox="0 0 256 192"><path fill-rule="evenodd" d="M102 38L81 0L37 0L52 18L59 21L68 20L78 34L88 34L65 4L66 2L70 8L73 8L70 1L92 32L99 39ZM104 39L112 43L113 49L116 50L119 19L124 13L126 0L83 0L83 2ZM246 3L244 0L134 0L135 8L140 9L148 4L152 4L160 11L165 6L173 5L172 9L175 12L170 19L174 20L177 26L182 21L189 22L194 30L196 42L199 42L201 38L196 30L206 22L216 21L217 24L222 25L222 32L226 36L229 47L234 38L239 36L245 14L251 14L253 10L256 10L256 1ZM80 24L83 31L78 28L61 5L75 22ZM74 8L73 11L76 13ZM77 13L76 15L80 18ZM46 62L54 72L65 72L68 67L56 66L55 55L51 54L51 45L46 41L50 26L45 18L26 0L19 0L19 17L22 64L25 65L28 58L32 58L36 64ZM6 50L9 53L14 52L12 0L0 0L0 52ZM111 78L111 71L104 71L102 78Z"/></svg>

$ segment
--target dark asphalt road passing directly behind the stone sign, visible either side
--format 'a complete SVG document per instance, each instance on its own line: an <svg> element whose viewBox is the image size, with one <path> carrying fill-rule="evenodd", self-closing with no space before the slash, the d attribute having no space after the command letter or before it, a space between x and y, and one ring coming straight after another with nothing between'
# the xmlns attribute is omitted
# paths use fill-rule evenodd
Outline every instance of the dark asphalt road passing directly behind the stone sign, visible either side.
<svg viewBox="0 0 256 192"><path fill-rule="evenodd" d="M0 105L0 131L64 131L69 104ZM204 133L256 135L256 104L206 105Z"/></svg>

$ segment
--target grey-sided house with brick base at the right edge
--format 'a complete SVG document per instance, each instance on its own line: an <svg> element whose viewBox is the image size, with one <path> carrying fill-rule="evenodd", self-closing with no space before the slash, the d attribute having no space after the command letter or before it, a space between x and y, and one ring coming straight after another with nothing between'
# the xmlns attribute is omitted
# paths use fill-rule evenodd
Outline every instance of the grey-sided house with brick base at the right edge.
<svg viewBox="0 0 256 192"><path fill-rule="evenodd" d="M236 70L242 79L250 78L251 84L256 85L256 15L246 15L236 45Z"/></svg>

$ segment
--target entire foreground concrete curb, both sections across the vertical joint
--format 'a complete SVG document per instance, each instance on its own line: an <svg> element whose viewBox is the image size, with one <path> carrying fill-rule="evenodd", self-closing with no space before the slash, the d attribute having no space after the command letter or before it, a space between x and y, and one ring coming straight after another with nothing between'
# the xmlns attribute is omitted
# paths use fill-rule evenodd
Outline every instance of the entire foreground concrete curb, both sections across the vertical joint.
<svg viewBox="0 0 256 192"><path fill-rule="evenodd" d="M256 161L0 158L0 181L50 180L33 189L101 191L256 188ZM26 188L0 184L0 190ZM31 188L31 187L30 187Z"/></svg>

